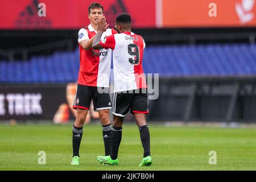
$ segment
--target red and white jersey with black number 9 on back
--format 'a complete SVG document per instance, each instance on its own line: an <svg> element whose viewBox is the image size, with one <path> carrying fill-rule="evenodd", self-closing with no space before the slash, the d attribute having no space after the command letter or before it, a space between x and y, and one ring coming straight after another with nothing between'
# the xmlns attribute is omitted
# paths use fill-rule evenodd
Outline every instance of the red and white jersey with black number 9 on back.
<svg viewBox="0 0 256 182"><path fill-rule="evenodd" d="M106 37L100 45L113 49L114 92L147 88L142 68L146 45L142 36L122 32Z"/></svg>

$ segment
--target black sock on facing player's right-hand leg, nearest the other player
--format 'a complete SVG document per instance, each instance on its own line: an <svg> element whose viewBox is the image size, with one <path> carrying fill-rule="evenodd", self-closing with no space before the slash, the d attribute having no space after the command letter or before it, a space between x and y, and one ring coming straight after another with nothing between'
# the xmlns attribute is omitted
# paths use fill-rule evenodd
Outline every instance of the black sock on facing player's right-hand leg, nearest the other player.
<svg viewBox="0 0 256 182"><path fill-rule="evenodd" d="M111 132L112 132L112 125L102 125L102 136L104 140L105 146L105 156L110 155L111 152Z"/></svg>

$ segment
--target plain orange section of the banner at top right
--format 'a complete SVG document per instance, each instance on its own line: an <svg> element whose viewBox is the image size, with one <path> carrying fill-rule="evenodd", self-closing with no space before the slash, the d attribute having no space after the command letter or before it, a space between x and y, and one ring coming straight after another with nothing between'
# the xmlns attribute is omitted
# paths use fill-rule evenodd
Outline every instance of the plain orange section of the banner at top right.
<svg viewBox="0 0 256 182"><path fill-rule="evenodd" d="M256 0L160 1L163 27L256 26Z"/></svg>

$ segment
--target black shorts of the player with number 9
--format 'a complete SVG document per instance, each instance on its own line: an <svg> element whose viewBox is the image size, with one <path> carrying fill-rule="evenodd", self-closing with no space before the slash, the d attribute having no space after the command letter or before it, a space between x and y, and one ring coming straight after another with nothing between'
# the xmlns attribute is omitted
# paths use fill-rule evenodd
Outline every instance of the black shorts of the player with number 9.
<svg viewBox="0 0 256 182"><path fill-rule="evenodd" d="M134 113L148 113L147 90L137 89L125 92L116 92L112 97L112 113L125 117L130 111Z"/></svg>

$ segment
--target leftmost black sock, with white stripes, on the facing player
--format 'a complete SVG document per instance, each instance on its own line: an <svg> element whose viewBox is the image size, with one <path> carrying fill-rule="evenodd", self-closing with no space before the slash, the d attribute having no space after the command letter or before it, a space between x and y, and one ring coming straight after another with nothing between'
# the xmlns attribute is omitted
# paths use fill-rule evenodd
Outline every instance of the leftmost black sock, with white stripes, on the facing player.
<svg viewBox="0 0 256 182"><path fill-rule="evenodd" d="M79 156L79 148L82 139L82 127L73 126L73 156Z"/></svg>

